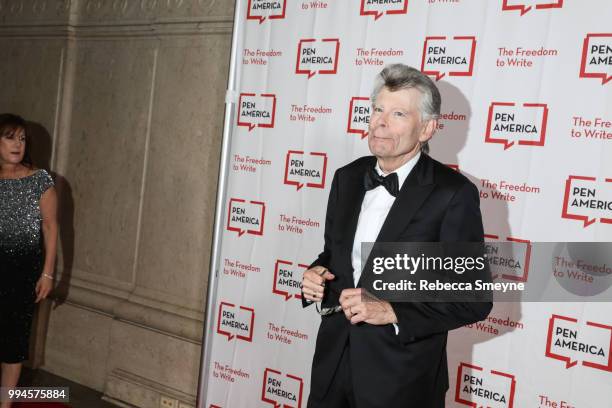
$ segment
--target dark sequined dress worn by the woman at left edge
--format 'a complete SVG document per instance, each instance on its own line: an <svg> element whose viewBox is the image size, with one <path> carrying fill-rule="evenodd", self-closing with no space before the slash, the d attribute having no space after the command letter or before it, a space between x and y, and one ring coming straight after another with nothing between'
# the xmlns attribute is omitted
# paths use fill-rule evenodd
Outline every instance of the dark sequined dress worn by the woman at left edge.
<svg viewBox="0 0 612 408"><path fill-rule="evenodd" d="M53 186L45 170L0 179L0 361L28 359L43 252L40 197Z"/></svg>

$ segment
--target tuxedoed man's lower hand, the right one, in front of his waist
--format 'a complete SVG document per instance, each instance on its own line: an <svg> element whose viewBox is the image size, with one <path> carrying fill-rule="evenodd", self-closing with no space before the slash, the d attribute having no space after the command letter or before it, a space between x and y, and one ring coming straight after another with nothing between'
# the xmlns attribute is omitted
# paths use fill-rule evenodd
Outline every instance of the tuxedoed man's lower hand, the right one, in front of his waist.
<svg viewBox="0 0 612 408"><path fill-rule="evenodd" d="M351 324L359 322L374 325L397 323L397 316L391 304L376 299L362 288L344 289L340 294L340 306Z"/></svg>

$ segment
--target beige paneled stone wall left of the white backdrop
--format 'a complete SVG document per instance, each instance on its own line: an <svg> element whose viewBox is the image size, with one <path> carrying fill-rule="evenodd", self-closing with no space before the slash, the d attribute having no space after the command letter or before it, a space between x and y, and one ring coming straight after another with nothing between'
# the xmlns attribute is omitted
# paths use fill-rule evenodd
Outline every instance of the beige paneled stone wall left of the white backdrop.
<svg viewBox="0 0 612 408"><path fill-rule="evenodd" d="M0 112L60 194L42 367L115 402L195 405L233 7L0 0Z"/></svg>

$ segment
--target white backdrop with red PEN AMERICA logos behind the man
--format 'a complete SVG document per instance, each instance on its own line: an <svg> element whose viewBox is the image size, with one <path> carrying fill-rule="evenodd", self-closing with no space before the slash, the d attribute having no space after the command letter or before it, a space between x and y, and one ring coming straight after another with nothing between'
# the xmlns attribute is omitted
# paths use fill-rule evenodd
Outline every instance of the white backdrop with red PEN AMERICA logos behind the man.
<svg viewBox="0 0 612 408"><path fill-rule="evenodd" d="M530 242L612 241L609 0L237 4L206 407L306 406L319 317L300 281L333 172L369 154L370 89L388 63L437 81L431 155L478 186L488 239L525 245L509 271L528 267ZM560 284L592 279L562 251L555 262ZM612 279L612 260L592 268ZM612 303L498 303L448 349L448 407L612 407Z"/></svg>

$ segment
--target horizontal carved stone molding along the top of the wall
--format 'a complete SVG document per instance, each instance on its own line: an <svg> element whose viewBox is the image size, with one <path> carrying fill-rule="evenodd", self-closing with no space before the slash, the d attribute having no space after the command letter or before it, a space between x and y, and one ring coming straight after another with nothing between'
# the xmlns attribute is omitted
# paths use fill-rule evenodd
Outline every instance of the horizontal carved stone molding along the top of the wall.
<svg viewBox="0 0 612 408"><path fill-rule="evenodd" d="M232 25L232 1L0 0L8 38L201 36L231 34Z"/></svg>

